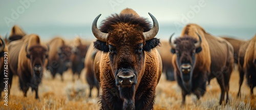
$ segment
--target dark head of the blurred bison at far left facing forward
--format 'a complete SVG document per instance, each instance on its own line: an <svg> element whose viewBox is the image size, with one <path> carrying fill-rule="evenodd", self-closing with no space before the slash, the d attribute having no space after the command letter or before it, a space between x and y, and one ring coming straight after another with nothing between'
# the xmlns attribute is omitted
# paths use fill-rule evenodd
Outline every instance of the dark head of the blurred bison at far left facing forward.
<svg viewBox="0 0 256 110"><path fill-rule="evenodd" d="M49 45L48 49L42 47L41 45L35 45L30 47L28 50L28 43L26 45L26 54L27 58L30 59L30 67L32 69L32 74L34 77L41 78L42 72L45 65L45 60L48 58Z"/></svg>

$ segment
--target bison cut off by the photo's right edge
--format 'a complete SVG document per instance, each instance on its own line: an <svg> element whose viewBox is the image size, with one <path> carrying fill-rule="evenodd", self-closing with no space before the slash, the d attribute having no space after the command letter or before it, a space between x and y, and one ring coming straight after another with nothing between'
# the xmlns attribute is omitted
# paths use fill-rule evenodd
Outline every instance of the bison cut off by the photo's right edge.
<svg viewBox="0 0 256 110"><path fill-rule="evenodd" d="M253 88L256 86L256 35L239 51L239 65L243 67L240 70L240 86L238 95L240 95L241 85L243 83L244 74L247 79L247 85L251 89L251 94L253 94ZM243 58L244 55L244 58Z"/></svg>

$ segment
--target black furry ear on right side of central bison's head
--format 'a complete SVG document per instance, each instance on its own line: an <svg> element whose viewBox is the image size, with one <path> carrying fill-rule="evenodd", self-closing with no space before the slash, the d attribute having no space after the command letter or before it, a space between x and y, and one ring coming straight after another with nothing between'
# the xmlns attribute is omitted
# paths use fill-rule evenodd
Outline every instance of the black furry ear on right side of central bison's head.
<svg viewBox="0 0 256 110"><path fill-rule="evenodd" d="M146 44L143 47L144 51L150 52L151 49L159 46L160 40L157 38L152 38L150 40L146 40Z"/></svg>

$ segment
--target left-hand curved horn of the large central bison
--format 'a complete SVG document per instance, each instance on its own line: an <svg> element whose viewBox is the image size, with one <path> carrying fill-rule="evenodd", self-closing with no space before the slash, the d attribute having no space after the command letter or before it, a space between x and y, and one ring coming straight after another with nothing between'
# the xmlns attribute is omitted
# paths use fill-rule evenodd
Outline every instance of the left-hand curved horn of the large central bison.
<svg viewBox="0 0 256 110"><path fill-rule="evenodd" d="M93 20L93 24L92 24L92 32L93 35L100 41L104 41L106 42L106 38L108 38L109 34L108 33L103 33L101 31L99 31L98 27L97 27L97 21L99 19L101 14L99 14L94 20Z"/></svg>

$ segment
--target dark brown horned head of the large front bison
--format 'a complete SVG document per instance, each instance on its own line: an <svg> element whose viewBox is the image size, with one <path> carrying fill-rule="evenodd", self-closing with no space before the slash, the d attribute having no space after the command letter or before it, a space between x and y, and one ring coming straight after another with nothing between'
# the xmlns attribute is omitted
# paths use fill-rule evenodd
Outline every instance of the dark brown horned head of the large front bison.
<svg viewBox="0 0 256 110"><path fill-rule="evenodd" d="M144 51L150 51L159 44L154 38L158 33L158 21L151 14L154 25L133 14L112 15L104 20L101 31L97 28L98 15L92 25L92 32L98 39L94 47L109 53L112 74L119 88L131 87L137 83L144 68Z"/></svg>

